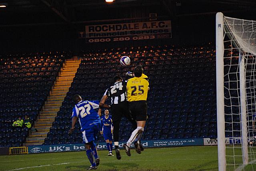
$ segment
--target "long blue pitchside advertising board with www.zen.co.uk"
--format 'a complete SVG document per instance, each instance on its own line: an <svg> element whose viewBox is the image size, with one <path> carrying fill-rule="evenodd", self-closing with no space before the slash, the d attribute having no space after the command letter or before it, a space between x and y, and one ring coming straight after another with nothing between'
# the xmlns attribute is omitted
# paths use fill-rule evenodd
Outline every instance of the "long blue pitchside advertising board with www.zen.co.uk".
<svg viewBox="0 0 256 171"><path fill-rule="evenodd" d="M122 148L126 142L120 142L119 147ZM166 139L166 140L150 140L142 141L144 147L178 147L204 145L203 139ZM134 144L131 145L134 147ZM106 143L99 143L97 149L107 149ZM28 146L28 153L47 153L47 152L63 152L63 151L81 151L85 150L84 144L60 144L60 145L35 145Z"/></svg>

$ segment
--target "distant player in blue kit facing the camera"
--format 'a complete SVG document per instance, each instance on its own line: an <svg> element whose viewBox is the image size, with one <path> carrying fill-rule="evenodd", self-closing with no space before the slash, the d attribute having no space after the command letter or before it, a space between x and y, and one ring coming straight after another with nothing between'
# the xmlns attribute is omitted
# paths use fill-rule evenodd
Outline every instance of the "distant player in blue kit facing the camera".
<svg viewBox="0 0 256 171"><path fill-rule="evenodd" d="M108 148L108 156L113 156L112 149L112 140L113 140L113 121L112 117L109 115L108 109L104 111L105 115L102 116L101 120L101 131L100 133L103 134L104 140L107 143Z"/></svg>

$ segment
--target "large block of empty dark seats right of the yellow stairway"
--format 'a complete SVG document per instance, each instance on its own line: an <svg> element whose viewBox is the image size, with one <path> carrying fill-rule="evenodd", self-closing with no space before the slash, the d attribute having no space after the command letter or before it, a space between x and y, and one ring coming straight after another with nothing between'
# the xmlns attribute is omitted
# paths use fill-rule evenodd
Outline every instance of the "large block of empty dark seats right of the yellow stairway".
<svg viewBox="0 0 256 171"><path fill-rule="evenodd" d="M173 49L170 51L172 55L168 55L168 48ZM210 48L213 52L214 47ZM206 55L194 55L192 58L193 53L199 53L197 51L200 46L196 48L184 47L182 52L190 54L190 56L181 54L178 48L168 45L165 46L166 52L162 51L161 46L157 49L159 52L152 46L148 46L146 48L141 47L139 52L135 52L134 49L126 47L127 52L134 53L134 56L131 56L132 67L138 63L142 64L144 72L150 80L147 100L148 120L143 138L150 140L214 136L214 130L216 130L216 90L213 79L215 75L212 71L212 68L215 68L214 60L209 60L211 57ZM62 103L60 111L58 111L57 122L52 125L54 129L50 130L54 137L56 137L55 134L59 134L63 139L66 139L66 143L79 141L78 134L76 136L67 134L66 129L70 125L66 125L65 128L62 127L70 123L69 117L74 106L71 100L72 95L80 93L82 97L86 97L88 100L100 99L106 85L111 83L114 74L120 74L124 80L127 79L125 73L130 71L130 68L121 68L118 65L117 56L114 55L117 53L120 55L120 52L123 53L126 50L113 48L112 50L97 50L97 52L81 52L82 62L71 84L70 91ZM143 51L143 54L140 53ZM161 56L161 54L164 55ZM42 62L41 66L35 67L43 68L44 63ZM50 63L45 65L47 66L45 66L46 69L53 70L53 68L49 68ZM79 127L79 124L76 125L76 133L79 132ZM56 131L52 131L55 129ZM60 129L63 131L57 131ZM131 131L130 123L122 119L120 138L127 140ZM100 137L100 141L104 142L102 137ZM59 141L59 143L65 143L65 141Z"/></svg>

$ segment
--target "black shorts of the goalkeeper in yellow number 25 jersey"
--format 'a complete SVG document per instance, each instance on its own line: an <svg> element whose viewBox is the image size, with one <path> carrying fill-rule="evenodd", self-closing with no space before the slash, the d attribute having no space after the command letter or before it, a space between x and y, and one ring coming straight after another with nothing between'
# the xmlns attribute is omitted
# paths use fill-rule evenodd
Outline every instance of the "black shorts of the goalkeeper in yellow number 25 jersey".
<svg viewBox="0 0 256 171"><path fill-rule="evenodd" d="M129 109L131 111L132 117L136 121L146 121L147 120L148 105L147 105L146 100L130 101Z"/></svg>

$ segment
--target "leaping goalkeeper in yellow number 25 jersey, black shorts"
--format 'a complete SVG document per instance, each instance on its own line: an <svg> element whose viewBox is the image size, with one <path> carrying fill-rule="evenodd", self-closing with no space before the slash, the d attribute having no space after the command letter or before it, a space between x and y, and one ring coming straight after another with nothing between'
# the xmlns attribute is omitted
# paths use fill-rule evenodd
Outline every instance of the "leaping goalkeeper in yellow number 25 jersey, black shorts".
<svg viewBox="0 0 256 171"><path fill-rule="evenodd" d="M131 75L128 73L127 75ZM140 144L140 138L144 131L147 119L147 97L148 97L148 77L143 74L142 66L136 66L134 68L134 73L132 74L134 78L127 80L127 98L129 102L129 110L131 111L132 117L137 122L137 128L132 132L132 135L124 144L126 154L128 156L130 153L130 145L134 142L137 153L141 153L142 145Z"/></svg>

